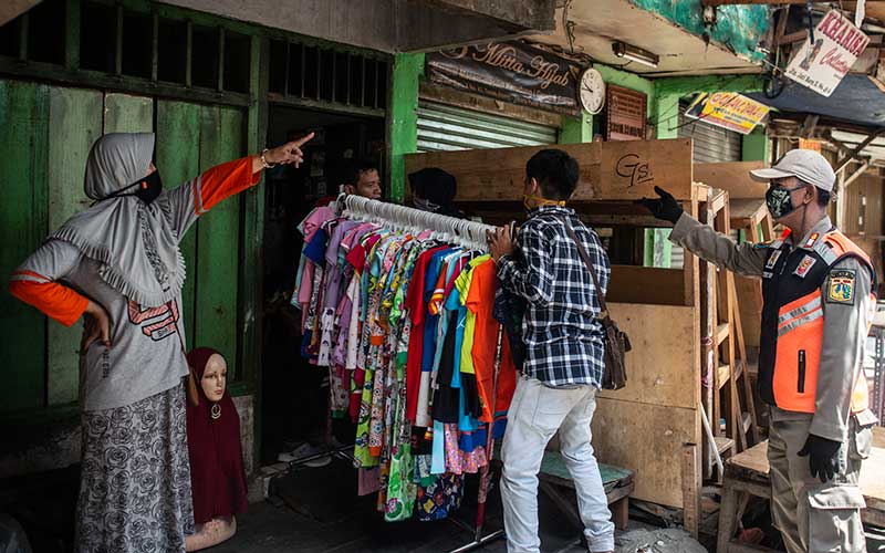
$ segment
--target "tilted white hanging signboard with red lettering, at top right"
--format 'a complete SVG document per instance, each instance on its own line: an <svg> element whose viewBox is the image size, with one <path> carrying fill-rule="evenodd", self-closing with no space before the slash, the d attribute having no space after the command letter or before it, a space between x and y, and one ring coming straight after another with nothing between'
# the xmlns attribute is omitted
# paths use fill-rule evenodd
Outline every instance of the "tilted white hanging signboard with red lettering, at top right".
<svg viewBox="0 0 885 553"><path fill-rule="evenodd" d="M809 36L793 54L787 76L829 97L867 44L870 36L832 10L814 28L814 44Z"/></svg>

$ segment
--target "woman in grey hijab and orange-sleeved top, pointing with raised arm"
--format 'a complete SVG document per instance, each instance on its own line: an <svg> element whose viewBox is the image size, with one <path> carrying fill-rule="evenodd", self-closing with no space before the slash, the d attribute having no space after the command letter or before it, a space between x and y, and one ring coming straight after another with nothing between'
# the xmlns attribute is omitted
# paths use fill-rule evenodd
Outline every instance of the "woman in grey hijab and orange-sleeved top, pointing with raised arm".
<svg viewBox="0 0 885 553"><path fill-rule="evenodd" d="M263 168L300 164L311 137L163 190L153 134L105 135L86 160L93 207L12 273L10 292L21 301L67 326L85 319L77 552L185 551L194 511L178 246L199 216L256 185Z"/></svg>

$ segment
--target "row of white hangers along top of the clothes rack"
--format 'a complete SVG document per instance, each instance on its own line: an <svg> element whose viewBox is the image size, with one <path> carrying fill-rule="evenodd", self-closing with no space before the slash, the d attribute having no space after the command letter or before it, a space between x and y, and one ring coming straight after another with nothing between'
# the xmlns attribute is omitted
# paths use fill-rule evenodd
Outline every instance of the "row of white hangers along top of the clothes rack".
<svg viewBox="0 0 885 553"><path fill-rule="evenodd" d="M423 211L410 207L372 200L355 195L341 195L337 199L339 212L351 219L375 222L395 231L420 233L430 231L431 239L462 246L471 250L488 252L488 232L497 227L467 219L458 219Z"/></svg>

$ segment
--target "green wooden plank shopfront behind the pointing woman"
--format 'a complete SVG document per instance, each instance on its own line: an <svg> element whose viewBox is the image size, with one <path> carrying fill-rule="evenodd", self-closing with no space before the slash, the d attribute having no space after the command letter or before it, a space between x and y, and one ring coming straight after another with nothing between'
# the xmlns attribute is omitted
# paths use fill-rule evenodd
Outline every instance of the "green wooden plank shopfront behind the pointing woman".
<svg viewBox="0 0 885 553"><path fill-rule="evenodd" d="M83 173L103 133L156 132L156 165L174 187L240 157L243 121L233 108L0 80L0 275L91 204ZM186 334L194 345L222 352L235 378L240 229L240 200L231 198L205 215L181 244ZM1 293L0 363L11 378L0 390L0 413L75 401L80 334L79 324L64 327Z"/></svg>

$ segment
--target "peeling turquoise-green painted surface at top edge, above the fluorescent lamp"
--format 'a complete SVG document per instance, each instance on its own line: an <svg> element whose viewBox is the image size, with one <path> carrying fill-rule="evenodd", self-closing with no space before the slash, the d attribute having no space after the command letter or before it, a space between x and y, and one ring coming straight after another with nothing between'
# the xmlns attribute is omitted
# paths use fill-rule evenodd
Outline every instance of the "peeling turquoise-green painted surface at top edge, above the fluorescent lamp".
<svg viewBox="0 0 885 553"><path fill-rule="evenodd" d="M697 0L631 0L636 7L657 13L691 34L708 34L717 42L743 58L762 60L764 54L757 44L771 25L767 6L719 6L716 24L704 24L702 10Z"/></svg>

